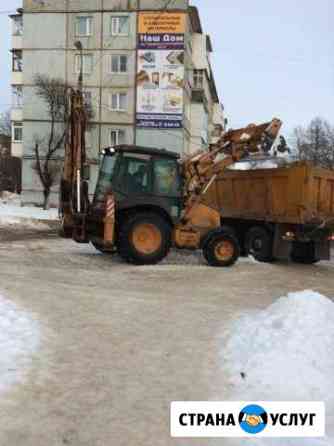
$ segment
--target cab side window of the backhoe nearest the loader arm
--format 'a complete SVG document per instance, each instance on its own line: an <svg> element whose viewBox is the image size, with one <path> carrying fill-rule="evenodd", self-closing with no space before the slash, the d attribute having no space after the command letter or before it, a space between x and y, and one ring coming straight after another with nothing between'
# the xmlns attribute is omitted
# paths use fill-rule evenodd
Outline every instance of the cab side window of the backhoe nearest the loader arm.
<svg viewBox="0 0 334 446"><path fill-rule="evenodd" d="M154 161L154 192L169 197L180 196L181 184L176 160L159 159Z"/></svg>

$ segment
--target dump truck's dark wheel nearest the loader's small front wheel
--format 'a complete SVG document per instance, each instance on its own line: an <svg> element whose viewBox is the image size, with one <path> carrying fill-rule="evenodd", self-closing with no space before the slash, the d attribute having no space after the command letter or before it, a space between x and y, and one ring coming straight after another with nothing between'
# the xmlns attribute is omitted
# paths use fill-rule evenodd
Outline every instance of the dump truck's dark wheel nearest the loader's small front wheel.
<svg viewBox="0 0 334 446"><path fill-rule="evenodd" d="M261 226L251 228L246 235L246 252L259 262L272 262L273 237L269 231Z"/></svg>

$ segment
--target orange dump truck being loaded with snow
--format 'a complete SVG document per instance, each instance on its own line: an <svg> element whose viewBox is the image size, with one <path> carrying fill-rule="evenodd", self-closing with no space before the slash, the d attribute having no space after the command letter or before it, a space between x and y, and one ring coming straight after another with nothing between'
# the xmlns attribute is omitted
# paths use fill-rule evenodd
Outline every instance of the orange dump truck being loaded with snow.
<svg viewBox="0 0 334 446"><path fill-rule="evenodd" d="M208 190L204 201L221 213L244 254L262 262L329 260L334 239L334 171L295 162L238 163ZM240 170L238 170L240 169Z"/></svg>

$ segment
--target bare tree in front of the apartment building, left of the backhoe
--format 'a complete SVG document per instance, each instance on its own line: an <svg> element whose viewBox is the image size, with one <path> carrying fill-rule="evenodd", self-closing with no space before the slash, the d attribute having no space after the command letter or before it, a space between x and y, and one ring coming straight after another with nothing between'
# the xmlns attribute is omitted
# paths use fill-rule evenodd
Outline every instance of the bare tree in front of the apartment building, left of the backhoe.
<svg viewBox="0 0 334 446"><path fill-rule="evenodd" d="M48 134L41 139L36 136L33 151L34 169L43 186L43 208L47 209L52 187L57 183L62 169L64 146L69 132L70 101L69 87L62 79L44 75L35 76L36 94L47 106ZM86 104L87 118L92 119L91 104Z"/></svg>

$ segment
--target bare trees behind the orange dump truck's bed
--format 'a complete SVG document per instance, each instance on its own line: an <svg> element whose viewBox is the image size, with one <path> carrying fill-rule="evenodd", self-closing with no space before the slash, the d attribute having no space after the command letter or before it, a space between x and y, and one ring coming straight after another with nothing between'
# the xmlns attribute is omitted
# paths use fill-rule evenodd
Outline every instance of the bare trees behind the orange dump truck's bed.
<svg viewBox="0 0 334 446"><path fill-rule="evenodd" d="M334 169L334 127L329 122L315 118L307 128L296 128L294 137L301 160Z"/></svg>

